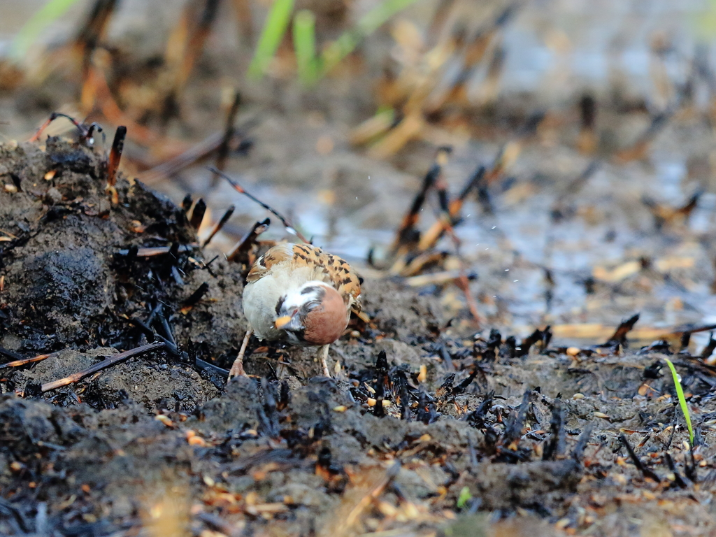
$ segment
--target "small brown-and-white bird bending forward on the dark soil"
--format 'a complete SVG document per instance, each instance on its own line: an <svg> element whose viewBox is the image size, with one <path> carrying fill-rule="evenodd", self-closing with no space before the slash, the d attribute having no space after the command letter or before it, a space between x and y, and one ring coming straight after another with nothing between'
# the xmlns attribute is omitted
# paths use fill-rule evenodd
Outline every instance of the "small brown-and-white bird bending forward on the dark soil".
<svg viewBox="0 0 716 537"><path fill-rule="evenodd" d="M281 243L253 263L243 288L249 329L229 378L246 375L243 354L258 339L320 347L326 377L329 345L342 336L351 311L361 312L362 280L347 261L311 244Z"/></svg>

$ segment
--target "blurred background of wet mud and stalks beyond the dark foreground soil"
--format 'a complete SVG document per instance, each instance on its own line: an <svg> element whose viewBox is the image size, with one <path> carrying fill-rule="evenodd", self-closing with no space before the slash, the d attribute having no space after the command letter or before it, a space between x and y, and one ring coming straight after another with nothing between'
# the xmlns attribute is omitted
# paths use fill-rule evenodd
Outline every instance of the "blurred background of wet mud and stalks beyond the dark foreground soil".
<svg viewBox="0 0 716 537"><path fill-rule="evenodd" d="M466 328L658 332L716 322L715 37L711 0L4 0L0 139L126 125L200 234L236 205L218 252L269 215L207 165Z"/></svg>

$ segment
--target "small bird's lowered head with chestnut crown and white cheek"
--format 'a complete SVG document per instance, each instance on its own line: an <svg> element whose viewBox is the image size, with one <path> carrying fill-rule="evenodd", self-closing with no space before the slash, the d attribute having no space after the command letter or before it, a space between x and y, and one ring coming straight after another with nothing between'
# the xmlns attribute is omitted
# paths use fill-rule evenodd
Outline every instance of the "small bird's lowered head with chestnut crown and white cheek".
<svg viewBox="0 0 716 537"><path fill-rule="evenodd" d="M334 287L309 281L281 296L274 326L284 330L294 344L328 345L342 336L348 317L347 306Z"/></svg>

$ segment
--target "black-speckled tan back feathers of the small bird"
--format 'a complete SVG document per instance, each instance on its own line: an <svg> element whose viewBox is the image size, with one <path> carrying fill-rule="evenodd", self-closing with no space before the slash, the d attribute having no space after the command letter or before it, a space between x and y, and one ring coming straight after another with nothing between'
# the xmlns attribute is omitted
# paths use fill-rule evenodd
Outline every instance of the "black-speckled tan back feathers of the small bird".
<svg viewBox="0 0 716 537"><path fill-rule="evenodd" d="M361 311L360 280L348 262L326 253L311 244L281 243L263 254L253 263L246 276L248 283L258 281L279 263L291 262L294 266L313 266L316 279L331 284L341 294L343 301L356 313Z"/></svg>

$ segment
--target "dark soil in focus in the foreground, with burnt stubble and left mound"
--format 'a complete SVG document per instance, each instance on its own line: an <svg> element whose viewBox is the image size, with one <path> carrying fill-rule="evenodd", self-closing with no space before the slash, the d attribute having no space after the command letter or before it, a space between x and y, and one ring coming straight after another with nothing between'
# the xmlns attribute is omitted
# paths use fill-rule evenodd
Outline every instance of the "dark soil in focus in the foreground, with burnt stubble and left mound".
<svg viewBox="0 0 716 537"><path fill-rule="evenodd" d="M209 262L183 210L126 180L112 205L103 158L53 138L0 146L0 178L18 188L0 189L0 353L55 353L0 369L0 534L716 531L715 369L688 354L692 452L668 346L520 350L390 280L365 281L372 321L333 346L333 379L311 349L252 344L252 377L226 385L242 267ZM152 339L165 350L41 391Z"/></svg>

